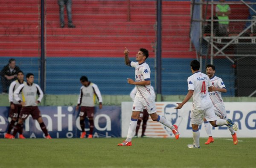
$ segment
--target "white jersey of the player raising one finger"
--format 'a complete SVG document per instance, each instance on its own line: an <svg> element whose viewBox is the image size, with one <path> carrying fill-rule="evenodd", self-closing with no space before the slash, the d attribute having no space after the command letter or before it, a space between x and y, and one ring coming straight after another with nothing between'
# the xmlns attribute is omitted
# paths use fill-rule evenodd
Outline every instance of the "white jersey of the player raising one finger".
<svg viewBox="0 0 256 168"><path fill-rule="evenodd" d="M145 81L150 80L150 68L147 63L143 62L139 64L138 62L131 61L130 66L135 68L135 81ZM154 90L152 90L150 85L136 85L137 93L136 97L153 97Z"/></svg>

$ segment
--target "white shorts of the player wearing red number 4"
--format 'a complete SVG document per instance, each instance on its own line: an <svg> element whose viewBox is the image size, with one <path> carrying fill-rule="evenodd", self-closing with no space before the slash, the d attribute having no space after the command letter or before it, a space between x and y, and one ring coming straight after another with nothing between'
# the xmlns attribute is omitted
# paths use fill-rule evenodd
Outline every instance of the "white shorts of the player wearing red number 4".
<svg viewBox="0 0 256 168"><path fill-rule="evenodd" d="M214 113L213 106L205 110L192 109L190 113L191 124L201 125L204 121L204 117L206 118L207 121L217 120L217 117Z"/></svg>

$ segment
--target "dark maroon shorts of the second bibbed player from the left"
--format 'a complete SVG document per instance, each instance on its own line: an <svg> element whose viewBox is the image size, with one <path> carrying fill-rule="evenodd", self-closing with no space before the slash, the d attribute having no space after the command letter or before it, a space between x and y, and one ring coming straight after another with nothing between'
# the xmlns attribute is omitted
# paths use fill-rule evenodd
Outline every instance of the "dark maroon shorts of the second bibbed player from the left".
<svg viewBox="0 0 256 168"><path fill-rule="evenodd" d="M41 112L38 108L38 106L25 106L22 107L20 111L20 118L22 120L26 120L27 117L29 117L29 114L31 114L32 118L34 120L37 120L39 117L42 117Z"/></svg>

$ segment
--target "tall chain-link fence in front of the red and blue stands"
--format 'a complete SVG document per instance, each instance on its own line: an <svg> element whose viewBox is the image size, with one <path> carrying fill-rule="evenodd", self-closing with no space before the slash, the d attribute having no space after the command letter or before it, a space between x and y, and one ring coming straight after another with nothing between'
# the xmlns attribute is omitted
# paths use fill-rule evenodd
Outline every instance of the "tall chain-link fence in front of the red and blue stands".
<svg viewBox="0 0 256 168"><path fill-rule="evenodd" d="M156 0L64 1L44 0L46 94L78 94L79 79L85 75L103 95L128 95L133 86L126 80L134 79L134 68L124 63L124 47L130 50L132 61L139 48L148 49L151 85L156 88ZM211 25L218 22L213 18L218 1L214 2L213 8L207 1L202 5L202 67L212 60L216 75L228 88L225 96L249 96L256 90L255 26L250 26L254 17L246 5L230 3L227 33L212 34ZM0 0L0 6L0 66L15 58L24 74L34 73L35 83L40 83L41 0ZM189 63L196 59L195 51L189 50L190 11L190 1L162 2L163 95L187 92Z"/></svg>

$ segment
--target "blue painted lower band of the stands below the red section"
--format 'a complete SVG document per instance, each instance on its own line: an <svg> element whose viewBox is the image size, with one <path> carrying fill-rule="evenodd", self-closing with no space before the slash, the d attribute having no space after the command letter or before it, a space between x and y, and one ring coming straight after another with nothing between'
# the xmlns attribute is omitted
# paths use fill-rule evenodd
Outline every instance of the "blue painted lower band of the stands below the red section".
<svg viewBox="0 0 256 168"><path fill-rule="evenodd" d="M35 74L35 83L39 83L38 58L14 58L24 74L32 72ZM6 65L9 59L10 57L0 57L0 67ZM186 95L191 60L162 59L163 95ZM148 58L147 63L151 68L151 85L155 87L154 59ZM224 80L228 90L224 96L234 96L235 70L231 67L232 63L227 59L215 59L214 64L216 75ZM104 95L128 95L134 87L127 83L127 78L134 79L134 68L126 66L124 58L49 57L46 70L46 94L79 94L79 79L82 75L98 85Z"/></svg>

